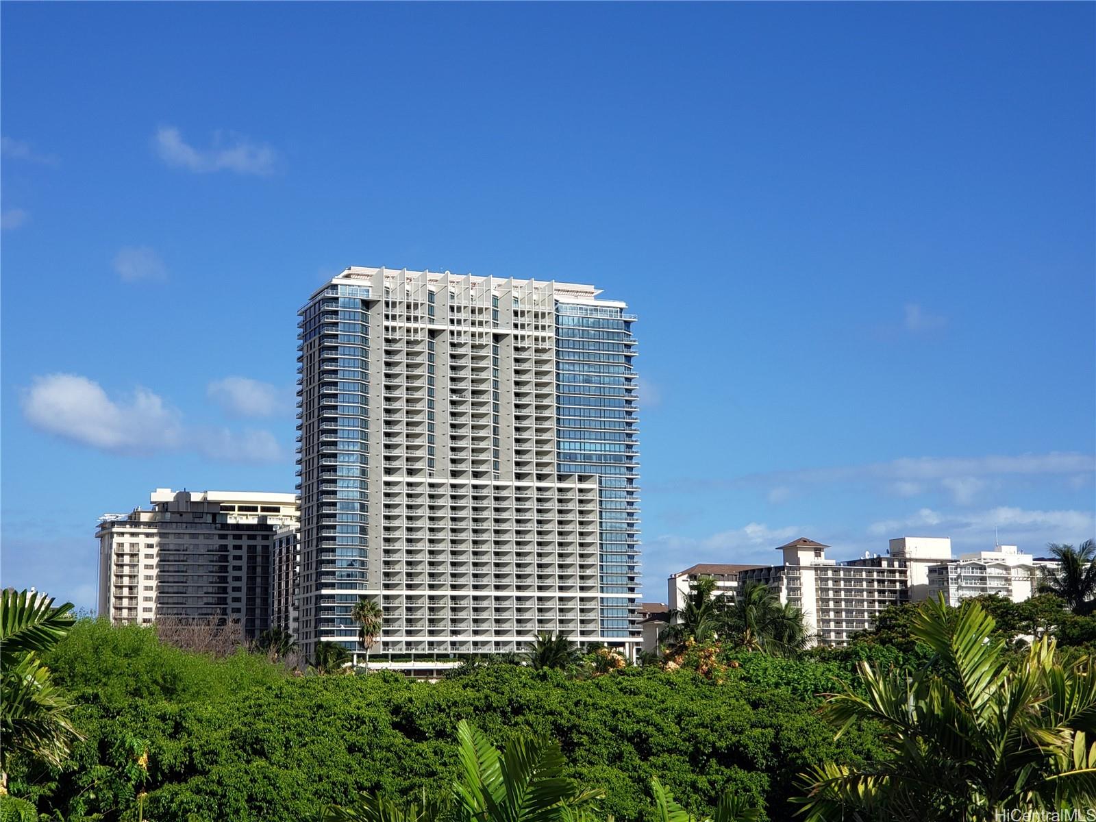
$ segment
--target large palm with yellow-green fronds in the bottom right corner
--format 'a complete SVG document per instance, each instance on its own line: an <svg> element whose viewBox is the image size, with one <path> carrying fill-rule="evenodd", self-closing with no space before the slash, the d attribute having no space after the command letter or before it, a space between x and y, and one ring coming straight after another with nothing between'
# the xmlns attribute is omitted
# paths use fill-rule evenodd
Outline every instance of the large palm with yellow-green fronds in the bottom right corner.
<svg viewBox="0 0 1096 822"><path fill-rule="evenodd" d="M832 696L837 737L859 720L889 750L866 765L806 774L807 822L1002 819L1012 809L1089 807L1096 798L1096 676L1063 665L1043 637L1019 664L978 603L924 603L914 637L933 661L912 676L861 662L860 687Z"/></svg>

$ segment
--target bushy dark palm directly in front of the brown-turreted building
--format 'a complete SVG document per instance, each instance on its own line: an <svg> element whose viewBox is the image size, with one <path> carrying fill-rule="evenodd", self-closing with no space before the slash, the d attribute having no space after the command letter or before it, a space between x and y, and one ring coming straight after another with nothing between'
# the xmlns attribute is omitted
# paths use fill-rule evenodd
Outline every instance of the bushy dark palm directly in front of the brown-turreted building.
<svg viewBox="0 0 1096 822"><path fill-rule="evenodd" d="M786 657L801 651L809 637L803 613L761 582L747 582L732 600L720 603L721 636L747 651Z"/></svg>

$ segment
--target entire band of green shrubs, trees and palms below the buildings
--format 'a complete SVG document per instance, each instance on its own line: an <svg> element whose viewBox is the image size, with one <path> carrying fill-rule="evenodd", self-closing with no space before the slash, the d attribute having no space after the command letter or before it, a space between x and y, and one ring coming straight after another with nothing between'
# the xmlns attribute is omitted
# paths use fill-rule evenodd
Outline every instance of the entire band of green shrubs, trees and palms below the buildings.
<svg viewBox="0 0 1096 822"><path fill-rule="evenodd" d="M902 606L843 649L766 653L713 632L643 666L546 636L527 658L469 660L433 684L354 675L335 659L345 649L292 671L281 635L214 659L152 628L83 619L41 651L80 738L53 761L11 757L20 800L0 798L0 820L34 819L30 802L69 822L775 821L804 812L809 796L814 819L840 819L840 806L882 822L903 818L887 789L895 775L936 762L948 778L917 798L939 810L925 819L1007 796L1021 808L1096 797L1080 777L1059 778L1084 757L1096 767L1089 737L1077 742L1096 732L1085 726L1094 618L1054 597L1023 605ZM1066 654L1050 639L1064 626L1078 640ZM827 694L840 696L824 707ZM842 779L875 786L878 801L857 804Z"/></svg>

